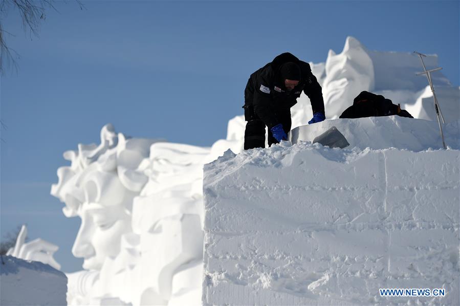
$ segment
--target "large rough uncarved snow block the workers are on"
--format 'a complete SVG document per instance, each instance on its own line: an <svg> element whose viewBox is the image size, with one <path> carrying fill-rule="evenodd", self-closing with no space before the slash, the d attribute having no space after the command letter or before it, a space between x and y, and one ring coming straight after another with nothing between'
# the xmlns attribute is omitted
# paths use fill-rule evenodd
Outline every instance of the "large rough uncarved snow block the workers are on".
<svg viewBox="0 0 460 306"><path fill-rule="evenodd" d="M378 119L393 132L406 120ZM356 139L397 137L359 120L346 131ZM431 133L422 121L413 130ZM449 137L447 150L429 137L412 150L282 142L205 165L203 304L460 304L458 128Z"/></svg>

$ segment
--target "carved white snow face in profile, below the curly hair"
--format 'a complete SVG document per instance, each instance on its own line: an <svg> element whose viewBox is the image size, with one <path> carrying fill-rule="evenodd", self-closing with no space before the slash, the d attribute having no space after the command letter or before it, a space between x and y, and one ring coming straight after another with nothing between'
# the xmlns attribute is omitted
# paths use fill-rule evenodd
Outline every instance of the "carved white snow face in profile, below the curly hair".
<svg viewBox="0 0 460 306"><path fill-rule="evenodd" d="M132 232L130 211L133 192L128 191L115 173L94 172L83 187L85 202L77 211L81 225L72 248L83 257L83 269L100 270L107 256L120 252L120 238Z"/></svg>

